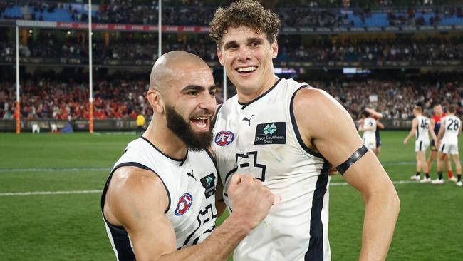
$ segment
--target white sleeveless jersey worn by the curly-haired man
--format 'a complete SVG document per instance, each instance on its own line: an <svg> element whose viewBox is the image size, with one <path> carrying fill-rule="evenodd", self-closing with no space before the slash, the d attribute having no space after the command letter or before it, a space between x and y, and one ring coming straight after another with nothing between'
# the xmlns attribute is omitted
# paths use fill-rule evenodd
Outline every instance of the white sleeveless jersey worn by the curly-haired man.
<svg viewBox="0 0 463 261"><path fill-rule="evenodd" d="M236 247L234 260L331 260L330 165L299 135L292 108L299 88L310 87L280 79L254 101L243 104L234 96L217 111L213 148L229 211L234 173L253 174L276 195L269 215Z"/></svg>

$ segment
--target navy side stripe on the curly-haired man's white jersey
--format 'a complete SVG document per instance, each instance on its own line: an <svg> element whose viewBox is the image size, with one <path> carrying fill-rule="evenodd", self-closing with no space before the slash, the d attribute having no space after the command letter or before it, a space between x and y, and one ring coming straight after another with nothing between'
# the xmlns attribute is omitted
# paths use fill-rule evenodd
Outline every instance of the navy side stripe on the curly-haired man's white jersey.
<svg viewBox="0 0 463 261"><path fill-rule="evenodd" d="M311 239L308 242L308 250L304 260L323 260L323 222L321 220L321 211L323 210L323 198L325 197L328 186L328 170L330 163L325 160L323 168L318 176L313 192L312 210L311 210Z"/></svg>

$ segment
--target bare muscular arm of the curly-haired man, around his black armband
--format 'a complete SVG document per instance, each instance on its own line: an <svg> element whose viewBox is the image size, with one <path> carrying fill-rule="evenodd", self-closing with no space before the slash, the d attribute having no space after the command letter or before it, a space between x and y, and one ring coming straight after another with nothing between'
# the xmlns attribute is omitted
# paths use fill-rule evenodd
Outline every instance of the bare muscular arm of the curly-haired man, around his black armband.
<svg viewBox="0 0 463 261"><path fill-rule="evenodd" d="M362 145L348 112L324 91L299 91L294 112L304 143L333 165L343 163ZM394 185L371 150L343 177L365 202L360 260L385 260L400 208Z"/></svg>

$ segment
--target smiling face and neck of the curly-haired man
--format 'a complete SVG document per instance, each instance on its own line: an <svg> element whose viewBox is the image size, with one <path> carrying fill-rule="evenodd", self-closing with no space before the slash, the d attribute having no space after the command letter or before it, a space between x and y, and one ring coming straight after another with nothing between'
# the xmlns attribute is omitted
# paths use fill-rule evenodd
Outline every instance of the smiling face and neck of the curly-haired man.
<svg viewBox="0 0 463 261"><path fill-rule="evenodd" d="M217 56L236 86L239 101L251 101L274 85L277 78L272 59L277 53L276 41L269 43L263 33L246 26L227 29Z"/></svg>

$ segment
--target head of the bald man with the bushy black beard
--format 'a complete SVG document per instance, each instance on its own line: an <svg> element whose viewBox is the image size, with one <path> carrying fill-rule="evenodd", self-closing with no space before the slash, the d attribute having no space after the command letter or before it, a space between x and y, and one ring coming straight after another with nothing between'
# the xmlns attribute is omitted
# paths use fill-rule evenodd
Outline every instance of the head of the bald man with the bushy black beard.
<svg viewBox="0 0 463 261"><path fill-rule="evenodd" d="M155 121L165 121L188 148L201 150L212 140L217 87L209 66L195 57L180 56L166 64L160 61L160 68L153 69L148 99L155 110Z"/></svg>

